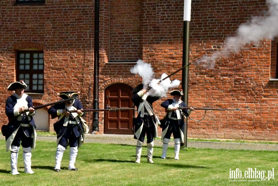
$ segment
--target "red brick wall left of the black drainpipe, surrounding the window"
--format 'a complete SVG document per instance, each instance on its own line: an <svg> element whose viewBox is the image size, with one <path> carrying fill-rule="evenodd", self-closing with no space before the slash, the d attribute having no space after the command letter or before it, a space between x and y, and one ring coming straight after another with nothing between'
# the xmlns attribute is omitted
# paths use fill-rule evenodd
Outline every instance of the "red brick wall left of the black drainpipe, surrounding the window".
<svg viewBox="0 0 278 186"><path fill-rule="evenodd" d="M88 107L91 83L94 4L78 0L47 1L44 5L0 4L0 115L7 123L5 100L11 95L6 88L15 79L16 50L44 50L44 94L34 95L34 105L60 98L61 91L80 91ZM92 94L91 94L92 95ZM90 98L91 99L91 98ZM87 118L88 120L88 118ZM54 120L50 120L53 129Z"/></svg>

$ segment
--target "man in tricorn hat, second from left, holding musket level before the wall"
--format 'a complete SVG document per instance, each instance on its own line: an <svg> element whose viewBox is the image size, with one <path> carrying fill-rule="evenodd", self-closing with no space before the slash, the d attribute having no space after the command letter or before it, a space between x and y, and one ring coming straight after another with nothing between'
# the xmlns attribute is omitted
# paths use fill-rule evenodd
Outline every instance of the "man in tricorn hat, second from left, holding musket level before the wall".
<svg viewBox="0 0 278 186"><path fill-rule="evenodd" d="M59 97L62 99L70 99L77 97L79 92L61 92ZM70 146L70 163L69 170L77 171L74 163L76 160L78 147L83 143L84 133L82 129L82 104L79 99L74 99L70 102L60 103L53 105L49 108L48 114L51 118L58 117L59 120L54 123L54 130L57 133L57 150L55 157L55 172L60 172L61 170L61 160L63 153L67 146ZM70 113L70 110L77 110L77 113Z"/></svg>

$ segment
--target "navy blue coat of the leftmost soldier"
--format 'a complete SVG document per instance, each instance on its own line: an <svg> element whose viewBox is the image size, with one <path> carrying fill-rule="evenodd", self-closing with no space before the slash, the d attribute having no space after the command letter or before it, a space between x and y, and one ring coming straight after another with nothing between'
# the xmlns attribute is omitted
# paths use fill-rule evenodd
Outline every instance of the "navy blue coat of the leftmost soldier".
<svg viewBox="0 0 278 186"><path fill-rule="evenodd" d="M33 117L30 115L30 113L28 114L31 118L30 120L27 117L25 119L22 119L21 121L17 120L19 115L15 116L15 114L14 114L14 107L17 103L17 100L18 100L18 98L15 97L14 95L11 95L6 100L5 113L9 119L9 123L7 124L7 127L6 127L6 139L20 126L20 123L31 124L36 129L35 121L34 121ZM27 101L28 108L33 107L33 101L29 95L27 95L25 100ZM23 115L23 114L20 114L20 115ZM24 134L27 137L31 137L31 135L33 133L33 129L30 127L21 127L20 130L23 130Z"/></svg>

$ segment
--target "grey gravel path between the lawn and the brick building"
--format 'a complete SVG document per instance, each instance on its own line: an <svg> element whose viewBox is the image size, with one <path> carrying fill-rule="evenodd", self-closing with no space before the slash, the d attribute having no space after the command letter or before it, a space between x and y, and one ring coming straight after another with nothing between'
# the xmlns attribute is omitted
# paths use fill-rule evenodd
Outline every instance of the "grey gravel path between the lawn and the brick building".
<svg viewBox="0 0 278 186"><path fill-rule="evenodd" d="M0 139L5 139L0 136ZM56 141L56 136L37 136L37 141ZM86 134L85 143L104 143L104 144L127 144L136 145L137 141L133 135L113 135L113 134ZM144 143L146 145L146 143ZM161 140L154 140L155 146L162 146ZM170 141L169 146L174 146L174 141ZM187 147L193 148L213 148L213 149L237 149L237 150L259 150L259 151L278 151L278 145L273 144L242 144L226 142L198 142L188 141Z"/></svg>

